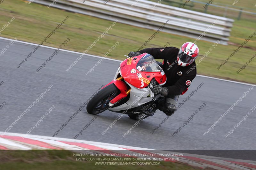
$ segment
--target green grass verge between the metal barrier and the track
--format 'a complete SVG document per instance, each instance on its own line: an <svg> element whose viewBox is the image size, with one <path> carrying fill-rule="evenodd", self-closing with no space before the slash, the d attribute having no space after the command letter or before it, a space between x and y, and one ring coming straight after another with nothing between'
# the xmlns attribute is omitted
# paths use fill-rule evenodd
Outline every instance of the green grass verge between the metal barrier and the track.
<svg viewBox="0 0 256 170"><path fill-rule="evenodd" d="M78 52L88 48L113 23L112 21L55 8L48 9L46 6L35 3L27 4L21 0L4 1L0 5L0 9L0 27L6 24L12 17L15 17L15 20L1 33L1 36L11 39L16 37L18 40L33 43L41 42L58 23L66 18L66 16L69 16L66 23L44 45L59 47L63 41L69 38L70 41L65 46L65 49ZM254 31L254 28L256 28L255 22L243 20L235 22L230 41L241 44L244 38L247 38ZM127 55L130 51L136 51L154 32L154 30L117 23L88 54L102 56L118 41L120 44L108 57L122 60L125 59L124 54ZM184 42L193 42L194 39L161 32L150 41L147 48L163 47L168 41L171 43L170 46L179 48ZM220 70L216 68L238 45L218 45L198 65L198 74L255 83L256 62L250 63L240 74L236 74L236 71L255 54L255 41L256 38L254 37L247 44L252 49L242 48ZM202 56L205 51L209 50L212 44L211 42L198 41L197 45L200 49L200 55Z"/></svg>

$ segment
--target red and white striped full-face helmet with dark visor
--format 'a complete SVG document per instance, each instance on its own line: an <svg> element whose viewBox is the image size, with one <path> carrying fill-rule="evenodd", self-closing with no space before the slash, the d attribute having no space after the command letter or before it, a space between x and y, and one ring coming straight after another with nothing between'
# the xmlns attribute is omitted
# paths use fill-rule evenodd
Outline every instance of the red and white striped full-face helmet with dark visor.
<svg viewBox="0 0 256 170"><path fill-rule="evenodd" d="M178 53L178 64L182 67L193 63L198 56L199 48L193 42L186 42L180 47Z"/></svg>

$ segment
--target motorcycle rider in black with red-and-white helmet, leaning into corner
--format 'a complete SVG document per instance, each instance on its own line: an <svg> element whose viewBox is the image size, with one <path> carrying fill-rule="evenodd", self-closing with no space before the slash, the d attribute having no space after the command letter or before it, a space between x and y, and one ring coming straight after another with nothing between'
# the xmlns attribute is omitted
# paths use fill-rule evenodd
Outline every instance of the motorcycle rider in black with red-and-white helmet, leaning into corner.
<svg viewBox="0 0 256 170"><path fill-rule="evenodd" d="M128 56L134 57L143 53L148 53L155 59L164 60L163 70L167 81L163 86L154 85L151 90L154 94L165 96L164 100L158 101L157 108L170 116L176 110L180 94L187 91L192 80L196 77L195 60L198 56L199 48L192 42L186 42L180 49L176 47L145 48L136 52L132 51Z"/></svg>

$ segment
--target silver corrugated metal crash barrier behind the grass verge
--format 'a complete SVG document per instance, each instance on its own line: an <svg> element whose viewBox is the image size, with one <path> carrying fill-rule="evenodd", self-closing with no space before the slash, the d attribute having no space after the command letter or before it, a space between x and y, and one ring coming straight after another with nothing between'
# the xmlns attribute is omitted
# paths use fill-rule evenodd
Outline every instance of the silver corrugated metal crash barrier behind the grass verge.
<svg viewBox="0 0 256 170"><path fill-rule="evenodd" d="M35 3L49 5L52 0L34 0ZM82 13L148 29L164 26L163 32L198 38L227 45L234 20L157 4L147 0L58 0L55 8Z"/></svg>

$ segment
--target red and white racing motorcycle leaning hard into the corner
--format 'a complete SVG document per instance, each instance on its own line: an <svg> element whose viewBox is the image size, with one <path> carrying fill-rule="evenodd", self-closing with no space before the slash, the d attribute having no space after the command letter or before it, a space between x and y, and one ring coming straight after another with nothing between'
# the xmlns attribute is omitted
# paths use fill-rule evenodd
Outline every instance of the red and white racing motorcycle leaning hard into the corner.
<svg viewBox="0 0 256 170"><path fill-rule="evenodd" d="M87 112L97 115L108 109L134 120L153 116L157 100L163 96L154 95L151 89L153 85L166 83L162 68L162 63L147 53L125 59L114 79L88 102Z"/></svg>

